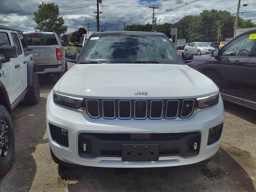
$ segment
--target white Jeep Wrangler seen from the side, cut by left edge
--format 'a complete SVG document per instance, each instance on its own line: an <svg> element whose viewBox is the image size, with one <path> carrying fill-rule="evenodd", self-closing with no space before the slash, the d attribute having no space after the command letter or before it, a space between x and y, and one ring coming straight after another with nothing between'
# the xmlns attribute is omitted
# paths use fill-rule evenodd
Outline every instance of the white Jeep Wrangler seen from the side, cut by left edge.
<svg viewBox="0 0 256 192"><path fill-rule="evenodd" d="M27 104L39 102L36 63L30 60L22 31L0 26L0 176L12 165L14 133L10 113L23 98Z"/></svg>

